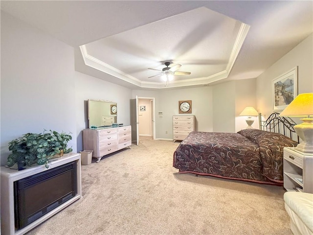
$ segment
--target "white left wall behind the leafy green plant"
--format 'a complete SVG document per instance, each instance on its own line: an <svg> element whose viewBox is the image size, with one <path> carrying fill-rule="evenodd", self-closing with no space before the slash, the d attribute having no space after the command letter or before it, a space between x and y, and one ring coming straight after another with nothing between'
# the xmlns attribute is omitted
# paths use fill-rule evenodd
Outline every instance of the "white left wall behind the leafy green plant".
<svg viewBox="0 0 313 235"><path fill-rule="evenodd" d="M46 130L71 132L76 151L73 48L1 11L1 161L8 142Z"/></svg>

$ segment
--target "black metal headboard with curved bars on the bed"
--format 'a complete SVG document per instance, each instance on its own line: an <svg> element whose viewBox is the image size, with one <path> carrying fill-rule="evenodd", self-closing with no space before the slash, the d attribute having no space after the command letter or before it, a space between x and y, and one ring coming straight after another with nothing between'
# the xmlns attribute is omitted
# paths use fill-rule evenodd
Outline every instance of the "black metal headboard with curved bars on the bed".
<svg viewBox="0 0 313 235"><path fill-rule="evenodd" d="M296 124L297 123L295 123L291 118L280 117L279 113L272 113L265 121L262 121L261 114L259 114L260 130L280 133L290 139L294 139L294 137L296 137L299 142L299 136L293 128Z"/></svg>

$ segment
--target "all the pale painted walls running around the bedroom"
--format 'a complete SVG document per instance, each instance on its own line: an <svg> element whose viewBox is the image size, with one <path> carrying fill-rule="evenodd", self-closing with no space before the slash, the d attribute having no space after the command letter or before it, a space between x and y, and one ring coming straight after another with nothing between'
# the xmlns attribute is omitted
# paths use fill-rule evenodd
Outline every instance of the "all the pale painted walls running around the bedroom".
<svg viewBox="0 0 313 235"><path fill-rule="evenodd" d="M1 162L8 142L45 129L71 132L69 145L79 152L87 127L88 99L114 101L119 123L130 124L130 99L154 97L156 139L172 139L172 116L179 100L192 100L198 131L235 132L246 125L239 113L246 106L272 112L271 81L299 66L299 93L313 92L312 35L257 79L179 90L130 90L74 70L72 47L1 12ZM163 112L163 116L158 116ZM165 134L165 132L168 134Z"/></svg>

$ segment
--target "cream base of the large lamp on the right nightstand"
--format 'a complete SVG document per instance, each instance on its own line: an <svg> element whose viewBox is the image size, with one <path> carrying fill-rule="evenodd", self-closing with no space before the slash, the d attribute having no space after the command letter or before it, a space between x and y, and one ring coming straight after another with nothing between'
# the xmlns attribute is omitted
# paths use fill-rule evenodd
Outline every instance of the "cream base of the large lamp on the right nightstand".
<svg viewBox="0 0 313 235"><path fill-rule="evenodd" d="M295 125L294 130L302 140L295 149L304 153L313 153L313 118L302 118L301 124Z"/></svg>

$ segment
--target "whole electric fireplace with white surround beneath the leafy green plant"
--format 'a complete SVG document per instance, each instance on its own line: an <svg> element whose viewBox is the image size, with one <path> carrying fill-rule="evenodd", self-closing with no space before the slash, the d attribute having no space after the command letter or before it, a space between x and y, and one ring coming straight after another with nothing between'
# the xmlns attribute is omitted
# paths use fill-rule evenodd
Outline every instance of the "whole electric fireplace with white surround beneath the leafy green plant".
<svg viewBox="0 0 313 235"><path fill-rule="evenodd" d="M81 158L67 153L24 170L0 167L1 235L23 235L82 196Z"/></svg>

